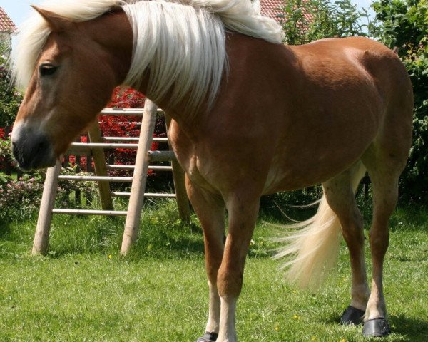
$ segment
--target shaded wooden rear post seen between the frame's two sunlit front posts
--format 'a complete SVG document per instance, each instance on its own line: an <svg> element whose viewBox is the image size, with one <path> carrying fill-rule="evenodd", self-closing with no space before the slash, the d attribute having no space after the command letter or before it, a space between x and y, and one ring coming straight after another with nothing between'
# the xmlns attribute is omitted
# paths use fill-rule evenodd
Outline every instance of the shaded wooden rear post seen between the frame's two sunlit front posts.
<svg viewBox="0 0 428 342"><path fill-rule="evenodd" d="M89 127L88 130L89 140L91 142L102 142L101 140L101 130L96 120L93 125ZM95 165L95 174L97 176L106 176L107 167L106 167L106 155L104 154L104 149L100 147L93 147L93 164ZM91 162L91 159L87 160L86 163ZM110 192L110 182L98 181L98 190L100 192L101 207L103 210L113 210L113 201L111 199Z"/></svg>

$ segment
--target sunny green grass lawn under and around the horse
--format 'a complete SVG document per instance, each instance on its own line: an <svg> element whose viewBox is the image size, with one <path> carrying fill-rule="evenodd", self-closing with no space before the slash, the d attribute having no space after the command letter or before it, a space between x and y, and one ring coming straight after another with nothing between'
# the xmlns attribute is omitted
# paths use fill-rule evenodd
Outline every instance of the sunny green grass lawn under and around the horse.
<svg viewBox="0 0 428 342"><path fill-rule="evenodd" d="M173 202L146 209L138 242L121 259L123 223L55 216L47 257L29 254L36 218L0 223L0 341L178 342L200 336L208 286L197 220L181 224ZM427 227L424 208L398 209L392 218L384 284L394 333L382 341L428 341ZM240 341L367 341L361 327L337 323L349 302L345 246L336 271L311 294L283 281L280 262L270 259L275 234L260 219L238 301Z"/></svg>

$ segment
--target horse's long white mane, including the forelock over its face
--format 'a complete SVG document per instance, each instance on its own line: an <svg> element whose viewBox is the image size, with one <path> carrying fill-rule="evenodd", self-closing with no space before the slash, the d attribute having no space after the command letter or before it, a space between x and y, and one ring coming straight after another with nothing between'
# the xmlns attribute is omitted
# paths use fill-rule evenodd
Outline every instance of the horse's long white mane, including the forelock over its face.
<svg viewBox="0 0 428 342"><path fill-rule="evenodd" d="M41 8L73 21L88 21L113 6L122 6L133 29L133 58L125 84L138 88L149 71L148 98L170 104L185 100L197 108L212 105L226 66L225 31L272 43L282 42L281 27L260 15L250 0L153 0L126 4L121 0L50 0ZM21 88L28 86L50 29L34 14L19 29L13 72Z"/></svg>

